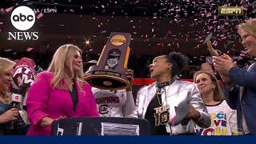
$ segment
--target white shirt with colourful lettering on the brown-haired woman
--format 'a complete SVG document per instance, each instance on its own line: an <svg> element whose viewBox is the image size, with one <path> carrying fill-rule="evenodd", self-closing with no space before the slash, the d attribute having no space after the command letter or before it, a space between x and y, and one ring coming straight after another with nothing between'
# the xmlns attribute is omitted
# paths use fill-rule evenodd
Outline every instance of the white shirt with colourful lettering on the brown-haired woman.
<svg viewBox="0 0 256 144"><path fill-rule="evenodd" d="M196 126L198 135L232 135L237 133L237 114L232 110L226 101L222 101L214 106L206 106L210 114L210 127L203 129Z"/></svg>

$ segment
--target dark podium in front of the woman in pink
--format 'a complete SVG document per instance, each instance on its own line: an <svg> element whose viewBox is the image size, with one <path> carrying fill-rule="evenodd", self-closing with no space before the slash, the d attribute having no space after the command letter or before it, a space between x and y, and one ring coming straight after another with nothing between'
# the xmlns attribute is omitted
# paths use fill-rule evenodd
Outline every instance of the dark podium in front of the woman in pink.
<svg viewBox="0 0 256 144"><path fill-rule="evenodd" d="M62 118L54 121L52 135L149 135L150 124L141 118Z"/></svg>

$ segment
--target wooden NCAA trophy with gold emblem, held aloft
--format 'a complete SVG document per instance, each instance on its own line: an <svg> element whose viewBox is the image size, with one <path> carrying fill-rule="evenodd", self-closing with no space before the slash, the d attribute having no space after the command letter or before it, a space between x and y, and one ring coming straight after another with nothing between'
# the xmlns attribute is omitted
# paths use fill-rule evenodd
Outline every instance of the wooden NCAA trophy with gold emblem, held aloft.
<svg viewBox="0 0 256 144"><path fill-rule="evenodd" d="M97 65L90 66L84 78L86 82L99 89L126 89L130 85L126 77L130 38L129 33L112 32Z"/></svg>

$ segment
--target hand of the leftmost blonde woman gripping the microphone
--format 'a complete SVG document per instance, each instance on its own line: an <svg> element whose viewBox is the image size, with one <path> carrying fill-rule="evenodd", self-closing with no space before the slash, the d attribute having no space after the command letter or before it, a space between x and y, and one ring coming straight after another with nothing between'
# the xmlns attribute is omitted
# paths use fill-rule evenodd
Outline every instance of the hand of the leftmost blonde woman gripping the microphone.
<svg viewBox="0 0 256 144"><path fill-rule="evenodd" d="M0 117L1 117L0 123L16 121L18 119L18 110L16 108L6 110L6 112L1 114Z"/></svg>

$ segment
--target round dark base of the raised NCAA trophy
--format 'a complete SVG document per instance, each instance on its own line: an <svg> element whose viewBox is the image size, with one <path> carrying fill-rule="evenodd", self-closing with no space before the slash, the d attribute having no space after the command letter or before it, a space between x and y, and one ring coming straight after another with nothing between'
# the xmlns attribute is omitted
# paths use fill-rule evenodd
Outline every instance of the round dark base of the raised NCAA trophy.
<svg viewBox="0 0 256 144"><path fill-rule="evenodd" d="M123 90L130 85L130 82L126 79L110 75L89 75L84 80L92 86L103 90Z"/></svg>

